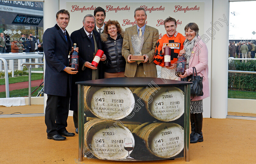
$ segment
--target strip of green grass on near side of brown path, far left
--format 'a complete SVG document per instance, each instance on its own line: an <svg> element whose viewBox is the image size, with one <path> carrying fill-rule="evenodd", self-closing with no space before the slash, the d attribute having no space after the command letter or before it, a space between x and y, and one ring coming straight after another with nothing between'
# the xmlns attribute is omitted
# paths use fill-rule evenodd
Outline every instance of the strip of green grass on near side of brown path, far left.
<svg viewBox="0 0 256 164"><path fill-rule="evenodd" d="M34 91L37 87L31 87L31 92ZM39 87L37 91L35 91L31 97L35 97L38 94L38 91L40 91L42 87ZM9 97L28 97L28 88L23 88L23 89L17 89L13 91L9 91ZM5 98L5 92L0 92L0 98Z"/></svg>

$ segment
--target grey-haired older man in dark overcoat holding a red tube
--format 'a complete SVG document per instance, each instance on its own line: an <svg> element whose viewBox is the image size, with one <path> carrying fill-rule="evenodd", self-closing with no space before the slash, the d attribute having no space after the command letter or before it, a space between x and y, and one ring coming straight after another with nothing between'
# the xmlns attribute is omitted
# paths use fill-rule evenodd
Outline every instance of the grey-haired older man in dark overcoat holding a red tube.
<svg viewBox="0 0 256 164"><path fill-rule="evenodd" d="M83 27L71 33L70 37L73 43L79 47L78 73L72 75L72 94L70 97L69 110L74 111L73 120L78 133L78 105L77 105L77 81L95 80L104 78L103 61L106 60L103 54L97 67L91 65L95 54L102 50L100 34L94 31L95 19L93 15L87 14L83 19Z"/></svg>

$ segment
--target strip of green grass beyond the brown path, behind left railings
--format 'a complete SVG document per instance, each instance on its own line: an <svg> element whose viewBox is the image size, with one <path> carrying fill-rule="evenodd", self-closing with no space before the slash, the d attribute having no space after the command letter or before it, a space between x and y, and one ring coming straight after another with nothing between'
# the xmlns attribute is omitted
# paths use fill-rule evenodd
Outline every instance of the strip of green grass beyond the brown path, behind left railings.
<svg viewBox="0 0 256 164"><path fill-rule="evenodd" d="M42 76L43 76L43 73L31 73L31 80L40 80L42 79ZM24 82L24 81L28 81L28 75L9 77L9 84ZM4 84L5 84L5 79L0 79L0 85L4 85Z"/></svg>

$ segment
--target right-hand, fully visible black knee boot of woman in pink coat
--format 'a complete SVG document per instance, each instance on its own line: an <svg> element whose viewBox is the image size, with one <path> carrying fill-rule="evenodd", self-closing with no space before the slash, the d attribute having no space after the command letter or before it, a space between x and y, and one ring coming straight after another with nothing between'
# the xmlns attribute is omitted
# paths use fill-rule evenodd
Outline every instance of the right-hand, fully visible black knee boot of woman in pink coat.
<svg viewBox="0 0 256 164"><path fill-rule="evenodd" d="M193 114L195 119L195 133L193 138L190 138L190 143L197 143L197 142L203 142L203 114L202 113L196 113Z"/></svg>

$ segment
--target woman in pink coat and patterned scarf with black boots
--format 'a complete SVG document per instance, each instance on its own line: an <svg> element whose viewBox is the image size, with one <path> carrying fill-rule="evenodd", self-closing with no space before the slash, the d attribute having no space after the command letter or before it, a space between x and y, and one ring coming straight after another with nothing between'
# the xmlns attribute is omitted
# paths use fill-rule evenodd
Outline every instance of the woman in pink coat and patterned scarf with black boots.
<svg viewBox="0 0 256 164"><path fill-rule="evenodd" d="M190 99L190 123L191 134L190 143L203 142L203 99L210 96L208 83L208 50L205 43L198 36L199 28L196 23L189 23L185 26L186 40L184 49L180 51L180 56L184 54L187 58L187 69L181 78L193 75L193 67L197 70L197 75L203 77L203 96Z"/></svg>

